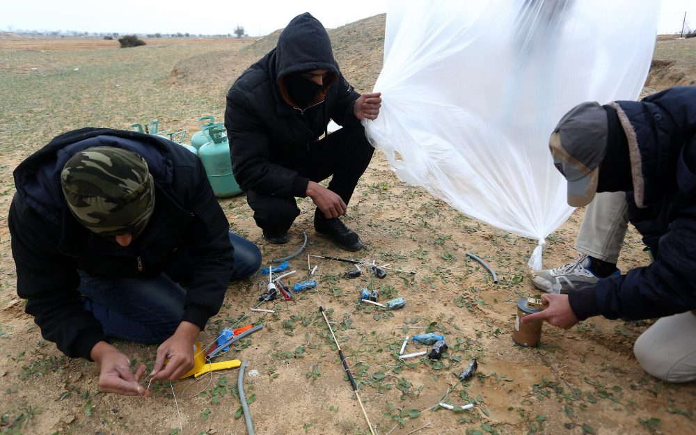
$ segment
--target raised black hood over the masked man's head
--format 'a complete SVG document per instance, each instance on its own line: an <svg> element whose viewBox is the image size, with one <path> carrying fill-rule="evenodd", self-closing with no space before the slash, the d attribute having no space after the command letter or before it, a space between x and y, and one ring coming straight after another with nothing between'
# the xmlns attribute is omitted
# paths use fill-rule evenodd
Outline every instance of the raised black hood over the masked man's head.
<svg viewBox="0 0 696 435"><path fill-rule="evenodd" d="M333 58L329 33L318 19L306 12L287 24L276 45L276 74L282 79L287 74L310 70L328 70L338 73Z"/></svg>

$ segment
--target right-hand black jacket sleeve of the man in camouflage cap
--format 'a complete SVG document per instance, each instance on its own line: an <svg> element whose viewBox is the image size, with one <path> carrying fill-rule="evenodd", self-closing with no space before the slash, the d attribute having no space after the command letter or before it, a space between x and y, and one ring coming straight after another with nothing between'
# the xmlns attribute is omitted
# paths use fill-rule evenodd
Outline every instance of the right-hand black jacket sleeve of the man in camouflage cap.
<svg viewBox="0 0 696 435"><path fill-rule="evenodd" d="M182 320L205 329L208 319L218 313L230 284L234 264L234 248L230 242L230 224L217 202L200 160L189 191L187 209L196 216L196 230L189 232L191 269L194 271L187 288Z"/></svg>

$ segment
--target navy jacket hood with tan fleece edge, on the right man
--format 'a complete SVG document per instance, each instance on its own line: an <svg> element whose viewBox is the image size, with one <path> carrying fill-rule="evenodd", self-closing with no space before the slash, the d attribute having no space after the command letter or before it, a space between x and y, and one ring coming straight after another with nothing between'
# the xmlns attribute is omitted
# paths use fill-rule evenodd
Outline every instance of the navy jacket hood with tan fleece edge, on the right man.
<svg viewBox="0 0 696 435"><path fill-rule="evenodd" d="M661 202L665 192L696 193L696 87L671 88L616 109L631 160L633 199L639 208ZM676 175L676 177L675 177Z"/></svg>

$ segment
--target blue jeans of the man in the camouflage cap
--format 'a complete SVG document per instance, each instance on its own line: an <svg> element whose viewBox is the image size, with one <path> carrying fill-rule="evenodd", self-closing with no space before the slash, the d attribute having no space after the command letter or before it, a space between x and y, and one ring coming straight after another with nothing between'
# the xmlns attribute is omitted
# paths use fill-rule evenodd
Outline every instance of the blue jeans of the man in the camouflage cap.
<svg viewBox="0 0 696 435"><path fill-rule="evenodd" d="M232 280L246 278L261 265L255 244L230 232L235 248ZM181 322L186 290L167 274L155 278L93 278L80 274L78 292L85 308L102 324L108 337L148 345L171 337Z"/></svg>

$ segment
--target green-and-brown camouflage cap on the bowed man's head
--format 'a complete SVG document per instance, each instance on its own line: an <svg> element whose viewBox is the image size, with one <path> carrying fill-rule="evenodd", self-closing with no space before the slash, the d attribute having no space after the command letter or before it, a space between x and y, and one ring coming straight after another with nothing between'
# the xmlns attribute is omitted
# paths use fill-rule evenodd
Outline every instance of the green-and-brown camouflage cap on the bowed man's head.
<svg viewBox="0 0 696 435"><path fill-rule="evenodd" d="M61 187L72 214L104 237L134 237L155 209L155 182L148 164L122 148L92 147L75 153L61 172Z"/></svg>

